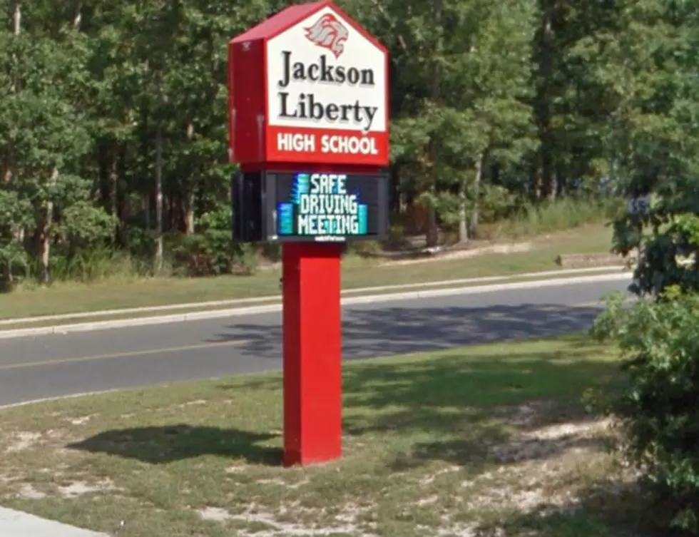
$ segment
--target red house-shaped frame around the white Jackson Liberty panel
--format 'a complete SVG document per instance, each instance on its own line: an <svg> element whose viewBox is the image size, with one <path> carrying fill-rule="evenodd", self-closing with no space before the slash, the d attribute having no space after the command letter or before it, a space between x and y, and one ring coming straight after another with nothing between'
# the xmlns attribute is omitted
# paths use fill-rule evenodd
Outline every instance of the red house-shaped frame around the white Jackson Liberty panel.
<svg viewBox="0 0 699 537"><path fill-rule="evenodd" d="M308 126L273 124L268 83L272 76L268 72L271 68L271 60L267 54L270 42L294 29L302 28L307 32L308 24L305 21L312 22L315 20L314 16L322 16L328 11L332 11L339 23L353 32L352 37L361 36L364 44L370 44L383 56L383 72L377 73L383 81L380 103L382 110L377 111L382 116L382 131L369 130L362 133L347 128L327 128L317 126L312 121L308 121ZM307 43L300 43L299 46L301 44L313 47ZM350 44L350 41L345 43L347 48ZM332 50L324 45L316 44L312 50L327 56L329 62L335 58ZM389 54L377 39L369 35L335 4L330 1L318 1L290 6L231 40L228 56L230 162L258 165L349 164L377 168L389 165ZM341 56L340 59L345 57ZM349 70L353 68L357 71L361 66L348 67ZM286 140L281 148L277 142L278 136ZM314 150L284 150L284 147L295 145L294 137L296 145L304 140L307 145L308 140L314 140Z"/></svg>

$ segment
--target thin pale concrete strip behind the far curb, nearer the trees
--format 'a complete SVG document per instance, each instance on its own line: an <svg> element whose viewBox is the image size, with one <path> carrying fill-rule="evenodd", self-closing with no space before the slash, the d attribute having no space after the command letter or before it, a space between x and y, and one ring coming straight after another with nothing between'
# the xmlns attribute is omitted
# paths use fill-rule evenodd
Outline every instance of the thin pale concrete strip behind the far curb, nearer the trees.
<svg viewBox="0 0 699 537"><path fill-rule="evenodd" d="M506 276L485 276L479 278L462 278L460 280L444 280L442 282L419 282L408 283L401 285L381 285L379 287L357 287L354 289L342 290L342 295L365 295L375 291L389 290L407 290L407 289L425 289L427 287L445 287L465 284L490 283L490 282L506 282L519 278L544 278L549 276L568 276L568 275L583 275L593 272L621 272L621 267L611 265L608 267L591 267L583 269L563 269L563 270L546 270L544 272L524 272L522 274L506 275ZM281 295L267 295L266 297L254 298L238 298L231 300L210 300L208 302L189 302L185 304L169 304L164 306L145 306L131 307L121 310L100 310L96 312L76 312L58 315L40 315L38 317L21 317L17 319L0 319L0 327L8 324L31 324L45 321L65 321L68 319L86 319L92 317L108 317L109 315L128 315L138 313L152 312L168 312L173 310L200 310L205 307L238 307L241 305L252 305L259 302L270 302L272 300L281 300Z"/></svg>

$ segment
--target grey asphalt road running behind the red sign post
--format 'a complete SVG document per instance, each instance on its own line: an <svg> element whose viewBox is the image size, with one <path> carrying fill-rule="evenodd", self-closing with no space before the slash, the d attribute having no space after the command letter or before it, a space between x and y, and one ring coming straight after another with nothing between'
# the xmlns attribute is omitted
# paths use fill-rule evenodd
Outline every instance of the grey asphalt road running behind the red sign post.
<svg viewBox="0 0 699 537"><path fill-rule="evenodd" d="M344 308L345 359L586 329L595 282ZM281 314L0 340L0 406L281 367Z"/></svg>

